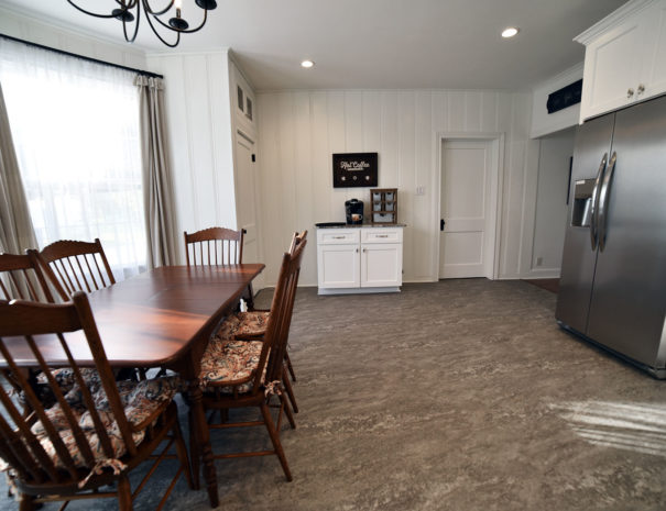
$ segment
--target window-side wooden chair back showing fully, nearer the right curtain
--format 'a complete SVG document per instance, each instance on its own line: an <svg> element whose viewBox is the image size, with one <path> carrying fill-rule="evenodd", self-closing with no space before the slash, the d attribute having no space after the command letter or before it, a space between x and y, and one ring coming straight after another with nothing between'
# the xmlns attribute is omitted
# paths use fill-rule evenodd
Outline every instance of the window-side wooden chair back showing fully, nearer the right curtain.
<svg viewBox="0 0 666 511"><path fill-rule="evenodd" d="M63 300L76 291L92 292L116 284L99 238L95 242L61 240L37 257Z"/></svg>

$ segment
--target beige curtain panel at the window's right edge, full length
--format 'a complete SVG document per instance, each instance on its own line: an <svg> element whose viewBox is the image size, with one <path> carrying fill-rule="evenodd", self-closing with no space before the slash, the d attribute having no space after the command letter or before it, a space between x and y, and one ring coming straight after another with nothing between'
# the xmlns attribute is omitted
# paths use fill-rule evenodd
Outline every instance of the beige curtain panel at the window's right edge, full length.
<svg viewBox="0 0 666 511"><path fill-rule="evenodd" d="M160 78L138 76L141 110L143 203L148 240L148 265L178 264L178 233L173 180L166 151L164 85Z"/></svg>

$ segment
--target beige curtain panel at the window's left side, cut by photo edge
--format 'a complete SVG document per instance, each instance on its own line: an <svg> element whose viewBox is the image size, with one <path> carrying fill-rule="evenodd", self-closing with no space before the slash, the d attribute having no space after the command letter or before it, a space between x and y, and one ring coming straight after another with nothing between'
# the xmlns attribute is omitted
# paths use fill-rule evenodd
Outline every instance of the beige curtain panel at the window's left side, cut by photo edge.
<svg viewBox="0 0 666 511"><path fill-rule="evenodd" d="M36 247L0 84L0 252L23 254Z"/></svg>

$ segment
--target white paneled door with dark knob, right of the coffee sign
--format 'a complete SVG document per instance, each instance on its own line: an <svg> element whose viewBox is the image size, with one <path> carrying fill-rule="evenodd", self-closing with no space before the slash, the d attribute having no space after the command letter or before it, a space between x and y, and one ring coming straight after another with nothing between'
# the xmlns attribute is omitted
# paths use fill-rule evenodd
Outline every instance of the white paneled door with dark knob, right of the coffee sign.
<svg viewBox="0 0 666 511"><path fill-rule="evenodd" d="M439 278L493 278L496 163L492 141L443 142L440 201Z"/></svg>

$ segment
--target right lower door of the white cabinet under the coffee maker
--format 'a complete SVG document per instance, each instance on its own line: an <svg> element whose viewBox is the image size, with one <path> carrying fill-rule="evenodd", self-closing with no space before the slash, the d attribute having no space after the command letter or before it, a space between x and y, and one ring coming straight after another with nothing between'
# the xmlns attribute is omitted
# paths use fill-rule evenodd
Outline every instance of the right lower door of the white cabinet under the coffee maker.
<svg viewBox="0 0 666 511"><path fill-rule="evenodd" d="M361 248L361 287L397 287L403 284L401 243L369 244Z"/></svg>

